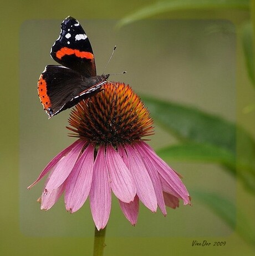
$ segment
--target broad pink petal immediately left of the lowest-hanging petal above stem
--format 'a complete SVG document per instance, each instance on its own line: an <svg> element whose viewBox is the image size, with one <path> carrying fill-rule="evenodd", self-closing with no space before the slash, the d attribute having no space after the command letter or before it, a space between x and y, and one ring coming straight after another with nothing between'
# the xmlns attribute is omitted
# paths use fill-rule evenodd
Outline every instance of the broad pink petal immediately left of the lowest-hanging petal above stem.
<svg viewBox="0 0 255 256"><path fill-rule="evenodd" d="M65 208L76 212L88 198L93 175L94 147L89 144L74 165L67 178Z"/></svg>

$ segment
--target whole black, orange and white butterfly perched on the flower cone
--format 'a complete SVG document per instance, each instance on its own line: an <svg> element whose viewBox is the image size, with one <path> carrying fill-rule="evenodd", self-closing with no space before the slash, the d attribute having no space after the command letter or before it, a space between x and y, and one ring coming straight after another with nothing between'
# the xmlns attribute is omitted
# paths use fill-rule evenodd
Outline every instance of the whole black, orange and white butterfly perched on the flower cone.
<svg viewBox="0 0 255 256"><path fill-rule="evenodd" d="M38 81L38 96L49 118L100 92L110 76L96 76L91 44L73 17L62 22L50 56L61 65L46 66Z"/></svg>

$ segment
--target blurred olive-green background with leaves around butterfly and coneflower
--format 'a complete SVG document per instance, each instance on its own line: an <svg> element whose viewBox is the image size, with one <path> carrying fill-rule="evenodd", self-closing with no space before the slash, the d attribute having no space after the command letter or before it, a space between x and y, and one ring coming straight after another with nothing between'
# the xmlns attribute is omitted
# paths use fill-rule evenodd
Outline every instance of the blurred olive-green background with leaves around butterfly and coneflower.
<svg viewBox="0 0 255 256"><path fill-rule="evenodd" d="M88 202L72 215L63 199L43 212L36 202L43 182L26 189L73 141L65 129L69 111L48 121L37 97L37 79L44 66L54 63L50 47L68 15L79 19L88 34L98 73L118 46L108 72L127 74L111 79L129 83L144 99L155 118L149 143L183 175L192 197L193 207L168 209L166 218L141 206L136 227L114 199L105 255L253 255L255 93L247 25L253 16L249 1L191 2L3 4L1 255L93 251ZM193 240L226 245L195 248Z"/></svg>

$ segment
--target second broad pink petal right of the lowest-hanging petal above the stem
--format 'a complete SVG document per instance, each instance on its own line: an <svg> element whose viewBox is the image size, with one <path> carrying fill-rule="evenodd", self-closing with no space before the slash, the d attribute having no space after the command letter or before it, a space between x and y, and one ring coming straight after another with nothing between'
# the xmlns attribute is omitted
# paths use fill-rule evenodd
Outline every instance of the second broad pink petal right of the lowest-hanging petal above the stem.
<svg viewBox="0 0 255 256"><path fill-rule="evenodd" d="M136 193L141 202L152 212L157 210L157 198L149 173L139 153L130 145L125 145L129 159L129 169L135 180Z"/></svg>

